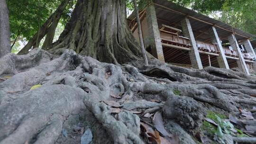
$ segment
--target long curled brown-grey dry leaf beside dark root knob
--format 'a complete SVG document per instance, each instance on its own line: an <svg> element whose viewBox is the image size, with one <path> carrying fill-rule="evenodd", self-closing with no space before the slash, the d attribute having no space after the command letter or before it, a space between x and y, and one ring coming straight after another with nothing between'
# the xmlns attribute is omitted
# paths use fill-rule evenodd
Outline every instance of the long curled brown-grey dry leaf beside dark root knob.
<svg viewBox="0 0 256 144"><path fill-rule="evenodd" d="M160 132L162 135L164 136L168 136L168 137L172 137L171 134L169 134L166 130L165 130L165 126L164 126L164 121L163 121L163 117L162 117L162 113L160 111L157 111L153 117L153 123L154 126L156 128L156 130L158 130L158 132Z"/></svg>

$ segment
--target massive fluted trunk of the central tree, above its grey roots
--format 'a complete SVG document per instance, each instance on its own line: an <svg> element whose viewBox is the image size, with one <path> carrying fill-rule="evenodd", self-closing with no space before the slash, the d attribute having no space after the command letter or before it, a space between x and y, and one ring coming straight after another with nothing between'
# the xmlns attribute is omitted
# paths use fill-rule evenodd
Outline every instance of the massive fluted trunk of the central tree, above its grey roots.
<svg viewBox="0 0 256 144"><path fill-rule="evenodd" d="M125 0L78 0L72 18L51 48L69 48L107 63L126 63L142 54L126 22Z"/></svg>

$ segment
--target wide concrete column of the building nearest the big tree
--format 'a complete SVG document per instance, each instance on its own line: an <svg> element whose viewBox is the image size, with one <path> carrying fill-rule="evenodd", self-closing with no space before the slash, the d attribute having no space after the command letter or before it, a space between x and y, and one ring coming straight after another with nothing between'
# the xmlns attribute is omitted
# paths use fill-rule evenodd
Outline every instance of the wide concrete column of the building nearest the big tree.
<svg viewBox="0 0 256 144"><path fill-rule="evenodd" d="M150 5L146 8L146 20L150 38L145 39L145 45L151 46L152 55L155 56L155 58L165 62L154 5Z"/></svg>

